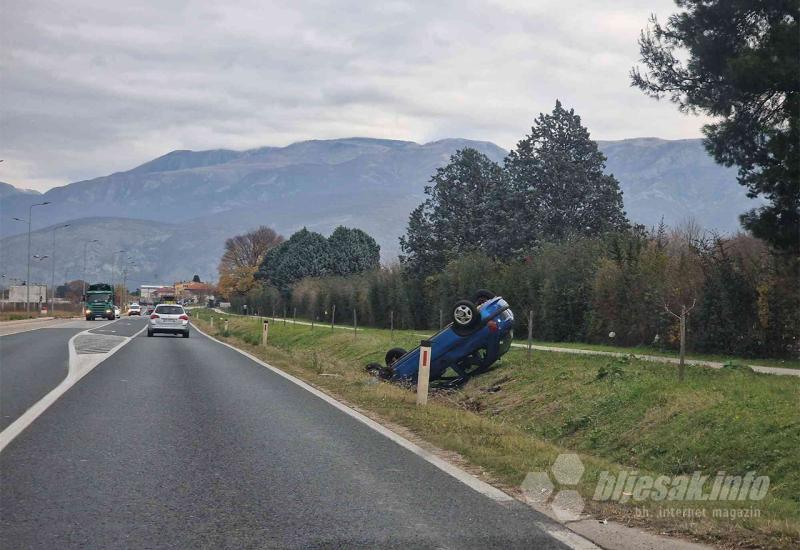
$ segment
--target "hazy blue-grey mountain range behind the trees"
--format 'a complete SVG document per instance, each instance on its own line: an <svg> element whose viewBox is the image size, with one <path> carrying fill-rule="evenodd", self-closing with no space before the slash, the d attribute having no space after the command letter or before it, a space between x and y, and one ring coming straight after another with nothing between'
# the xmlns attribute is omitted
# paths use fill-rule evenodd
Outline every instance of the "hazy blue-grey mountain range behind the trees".
<svg viewBox="0 0 800 550"><path fill-rule="evenodd" d="M623 190L631 220L648 226L694 218L730 233L738 214L758 203L736 183L735 171L711 159L700 140L639 138L598 142L607 173ZM288 236L302 227L329 234L359 227L396 258L409 212L424 200L437 167L458 149L473 147L501 162L503 148L483 141L445 139L418 144L370 138L312 140L247 151L173 151L126 172L50 189L46 193L0 182L0 265L3 282L24 278L27 219L34 209L31 253L56 255L56 281L83 274L110 278L113 264L130 265L133 286L167 283L194 274L215 278L225 239L258 225ZM499 213L502 215L502 213ZM56 232L63 224L69 227ZM124 253L112 254L119 250ZM130 260L128 259L130 258ZM50 259L34 261L33 281L50 280ZM117 268L119 271L119 268Z"/></svg>

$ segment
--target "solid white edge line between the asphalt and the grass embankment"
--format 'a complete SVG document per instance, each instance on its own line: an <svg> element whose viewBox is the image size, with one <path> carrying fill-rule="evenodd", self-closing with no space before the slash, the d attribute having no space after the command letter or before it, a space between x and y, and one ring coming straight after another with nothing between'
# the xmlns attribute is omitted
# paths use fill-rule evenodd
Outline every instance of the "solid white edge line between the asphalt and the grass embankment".
<svg viewBox="0 0 800 550"><path fill-rule="evenodd" d="M237 348L235 346L232 346L232 345L230 345L230 344L228 344L226 342L222 342L221 340L217 340L213 336L210 336L210 335L206 334L205 332L203 332L202 330L200 330L199 328L197 328L196 325L192 325L192 326L194 327L194 329L197 332L199 332L200 334L202 334L203 336L205 336L209 340L213 340L214 342L217 342L218 344L222 344L223 346L226 346L226 347L236 351L237 353L240 353L240 354L244 355L245 357L247 357L251 361L254 361L254 362L258 363L262 367L268 368L269 370L271 370L272 372L274 372L278 376L282 376L283 378L289 380L290 382L300 386L301 388L303 388L307 392L312 393L315 396L319 397L320 399L322 399L323 401L325 401L329 405L339 409L343 413L355 418L356 420L358 420L362 424L365 424L366 426L372 428L373 430L375 430L376 432L378 432L382 436L386 437L387 439L390 439L390 440L394 441L395 443L397 443L398 445L400 445L401 447L403 447L405 449L408 449L409 451L411 451L415 455L419 456L423 460L426 460L430 464L436 466L437 468L442 470L444 473L456 478L458 481L460 481L464 485L467 485L469 488L473 489L474 491L477 491L477 492L481 493L482 495L484 495L486 497L489 497L490 499L492 499L494 501L497 501L497 502L512 502L512 501L516 501L516 499L514 497L508 495L504 491L501 491L497 487L489 485L485 481L481 481L477 477L473 476L472 474L470 474L468 472L465 472L461 468L458 468L457 466L454 466L454 465L450 464L449 462L447 462L445 460L442 460L441 458L439 458L435 454L431 453L430 451L427 451L427 450L423 449L422 447L420 447L419 445L416 445L415 443L412 443L411 441L409 441L405 437L403 437L403 436L401 436L399 434L396 434L395 432L393 432L390 429L388 429L386 426L384 426L382 424L379 424L378 422L375 422L374 420L372 420L368 416L365 416L365 415L361 414L360 412L358 412L358 411L356 411L354 409L351 409L350 407L348 407L344 403L340 403L339 401L337 401L336 399L334 399L330 395L321 392L317 388L311 386L310 384L308 384L306 382L303 382L299 378L297 378L295 376L292 376L291 374L288 374L288 373L286 373L286 372L284 372L284 371L282 371L282 370L280 370L280 369L278 369L276 367L273 367L269 363L265 363L264 361L262 361L261 359L259 359L255 355L247 353L244 350L240 350L239 348ZM577 533L575 533L573 531L570 531L566 527L563 527L563 526L561 526L561 525L559 525L557 523L553 523L552 525L549 525L549 524L547 524L545 522L537 522L536 524L537 524L537 526L539 528L541 528L543 531L547 532L553 538L559 540L560 542L562 542L563 544L566 544L567 546L569 546L571 548L580 549L580 550L589 550L589 549L598 549L599 548L594 543L592 543L590 540L582 537L581 535L578 535Z"/></svg>

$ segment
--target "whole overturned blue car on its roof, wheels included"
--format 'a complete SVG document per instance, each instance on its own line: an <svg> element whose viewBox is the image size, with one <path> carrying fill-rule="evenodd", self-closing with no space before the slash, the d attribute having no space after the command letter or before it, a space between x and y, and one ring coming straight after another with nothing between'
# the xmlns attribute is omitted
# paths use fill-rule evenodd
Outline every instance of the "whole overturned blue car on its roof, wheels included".
<svg viewBox="0 0 800 550"><path fill-rule="evenodd" d="M502 297L481 290L473 301L457 302L452 322L430 338L431 381L459 385L486 372L509 350L513 338L514 314ZM392 348L385 361L385 366L367 365L367 371L395 382L416 382L419 347L410 351Z"/></svg>

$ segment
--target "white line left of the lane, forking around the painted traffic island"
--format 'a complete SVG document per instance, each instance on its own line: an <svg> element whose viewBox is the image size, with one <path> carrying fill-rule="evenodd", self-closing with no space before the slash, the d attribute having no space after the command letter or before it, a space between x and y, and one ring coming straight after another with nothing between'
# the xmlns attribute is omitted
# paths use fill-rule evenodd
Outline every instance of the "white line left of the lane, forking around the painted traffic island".
<svg viewBox="0 0 800 550"><path fill-rule="evenodd" d="M76 351L75 339L84 334L92 334L91 331L94 330L94 328L79 332L70 338L69 343L67 344L69 346L69 371L67 373L67 377L62 380L58 386L50 390L50 393L42 397L30 409L25 411L19 418L9 424L5 430L0 432L0 452L2 452L3 449L6 448L6 445L11 443L15 437L21 434L25 428L30 426L34 420L36 420L44 411L46 411L50 405L55 403L59 397L64 395L68 389L77 384L81 378L89 374L97 365L117 353L120 349L122 349L123 346L125 346L125 344L144 332L146 328L147 327L142 328L142 330L133 336L123 337L125 339L111 348L108 353L79 355ZM94 333L94 335L96 336L97 333ZM119 338L119 336L117 336L117 338Z"/></svg>

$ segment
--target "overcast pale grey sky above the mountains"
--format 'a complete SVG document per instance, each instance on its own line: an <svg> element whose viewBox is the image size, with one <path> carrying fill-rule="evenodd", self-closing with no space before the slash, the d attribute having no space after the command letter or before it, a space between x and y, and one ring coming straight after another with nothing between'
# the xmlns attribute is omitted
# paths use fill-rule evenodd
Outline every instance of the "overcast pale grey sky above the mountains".
<svg viewBox="0 0 800 550"><path fill-rule="evenodd" d="M45 190L174 149L490 140L556 98L595 139L698 137L629 85L672 0L4 0L0 180Z"/></svg>

